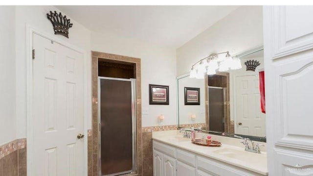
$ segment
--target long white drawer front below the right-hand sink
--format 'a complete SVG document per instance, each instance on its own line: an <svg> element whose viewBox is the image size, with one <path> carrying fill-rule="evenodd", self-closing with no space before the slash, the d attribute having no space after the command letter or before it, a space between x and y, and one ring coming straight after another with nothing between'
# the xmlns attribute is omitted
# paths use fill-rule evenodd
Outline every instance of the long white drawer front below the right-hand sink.
<svg viewBox="0 0 313 176"><path fill-rule="evenodd" d="M210 173L210 175L219 176L261 176L258 173L248 171L246 169L231 166L227 163L197 156L198 169Z"/></svg>

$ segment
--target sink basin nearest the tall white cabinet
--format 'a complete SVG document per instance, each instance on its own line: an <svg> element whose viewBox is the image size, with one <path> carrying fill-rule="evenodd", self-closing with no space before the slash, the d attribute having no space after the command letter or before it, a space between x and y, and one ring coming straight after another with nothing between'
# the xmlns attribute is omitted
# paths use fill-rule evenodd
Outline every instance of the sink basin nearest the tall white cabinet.
<svg viewBox="0 0 313 176"><path fill-rule="evenodd" d="M244 150L239 151L235 149L224 148L213 152L240 161L260 162L260 160L266 160L266 156L264 154L252 153Z"/></svg>

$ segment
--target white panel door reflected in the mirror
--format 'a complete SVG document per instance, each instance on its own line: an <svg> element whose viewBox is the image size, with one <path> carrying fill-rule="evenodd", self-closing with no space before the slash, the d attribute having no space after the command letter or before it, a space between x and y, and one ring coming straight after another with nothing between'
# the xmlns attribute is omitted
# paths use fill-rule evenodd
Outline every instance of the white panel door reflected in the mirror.
<svg viewBox="0 0 313 176"><path fill-rule="evenodd" d="M265 114L261 112L259 75L236 76L235 101L236 133L266 135Z"/></svg>

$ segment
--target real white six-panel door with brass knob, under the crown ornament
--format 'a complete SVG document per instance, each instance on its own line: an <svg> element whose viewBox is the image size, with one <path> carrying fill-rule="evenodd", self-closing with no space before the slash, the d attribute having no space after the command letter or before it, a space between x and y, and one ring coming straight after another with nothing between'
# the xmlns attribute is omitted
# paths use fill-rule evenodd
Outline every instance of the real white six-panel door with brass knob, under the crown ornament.
<svg viewBox="0 0 313 176"><path fill-rule="evenodd" d="M82 176L83 55L33 37L33 176Z"/></svg>

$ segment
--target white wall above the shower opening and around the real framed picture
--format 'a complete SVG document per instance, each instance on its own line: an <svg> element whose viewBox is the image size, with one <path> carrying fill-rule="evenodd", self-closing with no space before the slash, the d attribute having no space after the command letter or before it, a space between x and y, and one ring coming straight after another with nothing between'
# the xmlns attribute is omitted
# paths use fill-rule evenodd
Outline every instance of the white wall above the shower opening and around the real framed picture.
<svg viewBox="0 0 313 176"><path fill-rule="evenodd" d="M176 125L176 51L108 33L91 33L91 49L141 58L142 126L158 126L157 116L164 114L162 125ZM149 105L149 84L169 86L169 105Z"/></svg>

